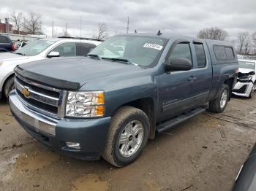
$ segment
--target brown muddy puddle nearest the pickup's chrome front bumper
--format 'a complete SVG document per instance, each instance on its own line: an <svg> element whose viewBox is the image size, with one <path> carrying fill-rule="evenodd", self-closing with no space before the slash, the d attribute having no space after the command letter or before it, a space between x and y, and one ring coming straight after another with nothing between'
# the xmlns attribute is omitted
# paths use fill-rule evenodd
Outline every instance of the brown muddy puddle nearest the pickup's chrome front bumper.
<svg viewBox="0 0 256 191"><path fill-rule="evenodd" d="M15 163L15 171L33 171L52 164L59 160L54 152L34 152L29 155L20 155Z"/></svg>

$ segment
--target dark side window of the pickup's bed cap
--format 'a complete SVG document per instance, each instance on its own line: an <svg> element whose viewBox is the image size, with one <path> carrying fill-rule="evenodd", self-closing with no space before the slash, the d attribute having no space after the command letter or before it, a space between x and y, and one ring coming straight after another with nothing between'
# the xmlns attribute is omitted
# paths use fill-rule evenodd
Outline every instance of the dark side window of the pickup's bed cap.
<svg viewBox="0 0 256 191"><path fill-rule="evenodd" d="M214 53L218 61L233 61L235 55L232 47L214 46Z"/></svg>

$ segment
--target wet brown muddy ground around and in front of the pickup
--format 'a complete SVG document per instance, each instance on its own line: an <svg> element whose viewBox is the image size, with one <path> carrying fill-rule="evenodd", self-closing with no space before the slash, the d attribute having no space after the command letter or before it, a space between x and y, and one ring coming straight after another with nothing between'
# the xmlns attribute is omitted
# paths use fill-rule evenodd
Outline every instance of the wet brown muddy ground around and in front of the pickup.
<svg viewBox="0 0 256 191"><path fill-rule="evenodd" d="M75 160L29 136L0 101L0 190L231 190L256 138L256 96L148 141L126 168Z"/></svg>

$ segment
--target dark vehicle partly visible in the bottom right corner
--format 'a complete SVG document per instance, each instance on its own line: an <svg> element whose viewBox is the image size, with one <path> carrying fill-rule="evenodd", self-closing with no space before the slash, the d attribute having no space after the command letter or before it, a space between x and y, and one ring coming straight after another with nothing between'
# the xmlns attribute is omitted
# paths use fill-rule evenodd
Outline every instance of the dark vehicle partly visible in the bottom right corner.
<svg viewBox="0 0 256 191"><path fill-rule="evenodd" d="M255 191L256 190L256 144L248 159L241 166L233 191Z"/></svg>

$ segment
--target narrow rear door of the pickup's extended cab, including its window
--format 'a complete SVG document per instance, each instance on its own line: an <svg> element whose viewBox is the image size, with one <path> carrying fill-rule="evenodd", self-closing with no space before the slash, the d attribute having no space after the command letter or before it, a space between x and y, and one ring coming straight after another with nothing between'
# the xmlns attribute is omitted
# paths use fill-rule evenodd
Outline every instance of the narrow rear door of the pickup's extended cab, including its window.
<svg viewBox="0 0 256 191"><path fill-rule="evenodd" d="M195 104L200 106L206 103L211 90L212 66L205 42L194 41L192 49L194 61L193 93L195 93Z"/></svg>

